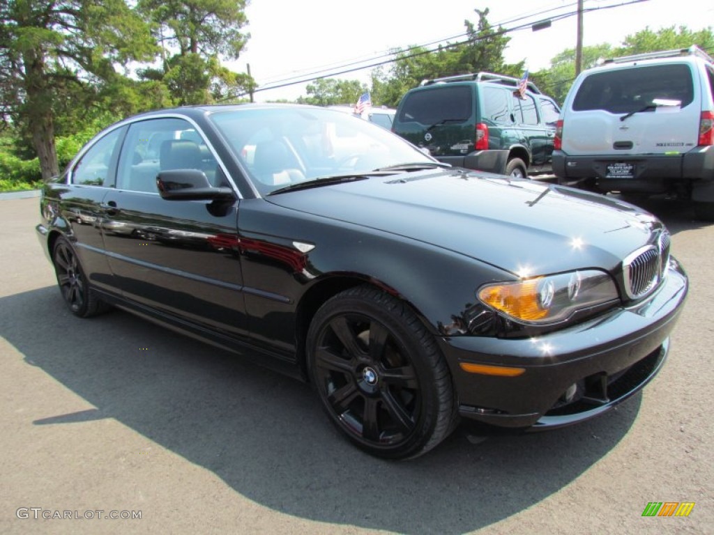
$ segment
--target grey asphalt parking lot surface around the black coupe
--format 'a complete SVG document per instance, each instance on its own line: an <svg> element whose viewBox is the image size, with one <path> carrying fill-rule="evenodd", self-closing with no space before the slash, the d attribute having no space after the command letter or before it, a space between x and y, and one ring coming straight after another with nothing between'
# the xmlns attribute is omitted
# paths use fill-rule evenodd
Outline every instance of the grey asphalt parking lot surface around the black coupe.
<svg viewBox="0 0 714 535"><path fill-rule="evenodd" d="M341 439L304 384L124 312L73 317L37 203L0 199L1 533L714 533L714 223L683 203L643 202L691 282L644 392L396 463ZM642 516L653 501L695 506Z"/></svg>

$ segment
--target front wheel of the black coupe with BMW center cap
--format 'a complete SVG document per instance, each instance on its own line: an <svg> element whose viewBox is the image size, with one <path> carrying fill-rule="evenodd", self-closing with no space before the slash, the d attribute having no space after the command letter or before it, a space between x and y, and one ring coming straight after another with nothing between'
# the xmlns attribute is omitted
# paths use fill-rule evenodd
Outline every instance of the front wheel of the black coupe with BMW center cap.
<svg viewBox="0 0 714 535"><path fill-rule="evenodd" d="M307 336L313 387L351 442L386 459L418 457L456 427L451 374L405 303L359 286L318 310Z"/></svg>

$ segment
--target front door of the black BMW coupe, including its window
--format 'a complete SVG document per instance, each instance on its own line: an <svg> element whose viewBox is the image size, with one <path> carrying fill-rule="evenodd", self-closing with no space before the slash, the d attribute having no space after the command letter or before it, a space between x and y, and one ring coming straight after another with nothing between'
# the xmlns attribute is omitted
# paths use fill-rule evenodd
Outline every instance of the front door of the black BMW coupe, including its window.
<svg viewBox="0 0 714 535"><path fill-rule="evenodd" d="M129 126L116 188L104 199L104 243L124 297L226 334L245 333L238 200L216 208L200 200L164 200L156 174L222 171L198 128L182 118Z"/></svg>

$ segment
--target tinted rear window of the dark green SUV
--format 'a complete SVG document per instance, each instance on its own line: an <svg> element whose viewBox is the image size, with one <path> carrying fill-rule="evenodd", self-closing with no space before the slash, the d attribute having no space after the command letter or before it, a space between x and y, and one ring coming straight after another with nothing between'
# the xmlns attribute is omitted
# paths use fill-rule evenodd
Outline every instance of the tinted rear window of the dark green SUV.
<svg viewBox="0 0 714 535"><path fill-rule="evenodd" d="M473 92L469 86L439 86L410 93L399 113L403 123L424 125L460 123L473 113Z"/></svg>

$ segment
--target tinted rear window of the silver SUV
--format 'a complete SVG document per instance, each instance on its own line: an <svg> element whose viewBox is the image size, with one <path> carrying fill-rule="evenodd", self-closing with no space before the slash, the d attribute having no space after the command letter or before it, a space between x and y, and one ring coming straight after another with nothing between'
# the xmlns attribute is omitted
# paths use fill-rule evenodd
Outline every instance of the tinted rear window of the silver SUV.
<svg viewBox="0 0 714 535"><path fill-rule="evenodd" d="M573 110L630 113L655 98L680 101L682 108L691 103L694 91L689 66L651 65L590 74L575 95Z"/></svg>

